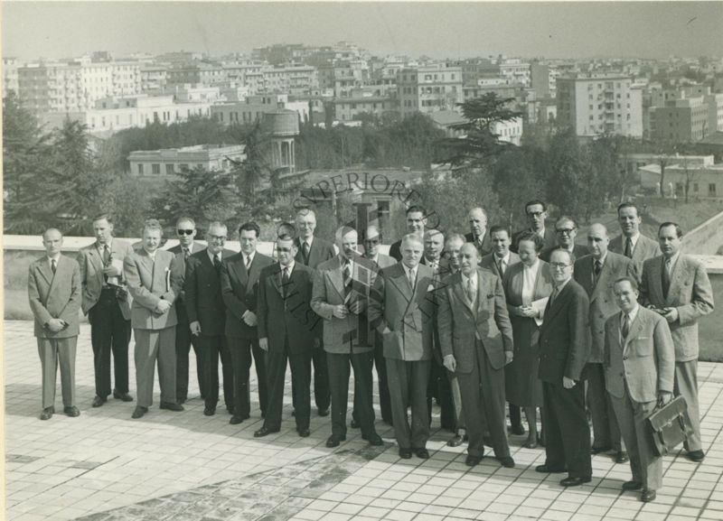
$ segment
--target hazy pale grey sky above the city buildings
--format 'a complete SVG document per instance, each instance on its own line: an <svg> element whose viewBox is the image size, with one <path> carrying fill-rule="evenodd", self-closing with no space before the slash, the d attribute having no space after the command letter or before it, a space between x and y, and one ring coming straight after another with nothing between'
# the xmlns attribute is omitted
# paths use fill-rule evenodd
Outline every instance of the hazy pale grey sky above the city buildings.
<svg viewBox="0 0 723 521"><path fill-rule="evenodd" d="M31 2L5 0L3 56L249 52L357 43L372 54L464 58L723 56L711 2Z"/></svg>

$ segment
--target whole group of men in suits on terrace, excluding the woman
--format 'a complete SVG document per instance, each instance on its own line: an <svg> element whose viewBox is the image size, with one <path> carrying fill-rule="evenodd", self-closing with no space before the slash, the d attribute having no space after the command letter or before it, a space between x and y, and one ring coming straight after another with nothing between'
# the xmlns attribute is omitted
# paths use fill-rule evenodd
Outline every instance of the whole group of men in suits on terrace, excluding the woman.
<svg viewBox="0 0 723 521"><path fill-rule="evenodd" d="M574 219L561 217L554 229L545 227L542 201L529 202L525 213L529 228L521 231L545 242L541 256L554 284L540 327L547 458L538 470L567 471L562 484L579 485L591 478L591 454L612 450L616 461L631 461L633 480L624 488L643 488L643 500L652 500L661 465L642 429L656 405L672 394L686 398L693 423L687 455L692 461L705 455L696 371L697 321L714 305L705 269L681 253L675 223L661 225L657 243L644 237L633 203L618 208L620 237L611 240L606 227L594 224L587 247L575 244ZM288 363L297 432L309 435L313 381L318 414L331 406L326 444L339 445L346 438L353 370L352 427L377 445L371 398L376 366L381 415L394 426L402 458L429 457L434 396L443 423L455 431L449 444L462 442L458 429L464 425L468 464L481 460L486 443L502 465L514 466L504 420L502 369L512 360L512 326L502 280L520 260L513 250L521 232L511 240L506 228L488 230L484 209L475 208L468 215L470 233L450 234L445 243L441 231L425 229L426 215L418 206L407 210L408 233L390 256L380 254L374 226L361 230L361 241L360 230L339 228L337 253L315 237L312 209L300 209L295 223L279 227L277 260L258 253L260 228L253 222L239 228L236 254L224 247L225 225L211 223L208 247L202 248L193 241L192 219L182 218L176 223L179 246L164 251L157 220L146 221L140 245L132 248L112 237L112 221L104 215L94 219L96 242L80 250L77 263L61 255L61 232L46 230L46 255L31 265L28 284L43 369L41 418L54 413L58 361L64 412L80 414L73 395L80 308L91 325L93 406L111 394L111 353L112 393L133 400L127 388L132 328L134 418L152 405L156 364L160 407L183 410L193 347L207 415L215 414L219 400L221 358L230 423L249 418L249 370L256 367L265 418L257 437L280 430ZM510 412L512 433L519 433L519 409L515 414L511 405Z"/></svg>

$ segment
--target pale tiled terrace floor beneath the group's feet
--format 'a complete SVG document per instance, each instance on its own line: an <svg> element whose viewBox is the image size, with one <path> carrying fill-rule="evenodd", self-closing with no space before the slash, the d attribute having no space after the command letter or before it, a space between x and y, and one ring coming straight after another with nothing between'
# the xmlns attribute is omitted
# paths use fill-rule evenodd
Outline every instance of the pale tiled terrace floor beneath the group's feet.
<svg viewBox="0 0 723 521"><path fill-rule="evenodd" d="M654 503L643 505L637 493L620 490L630 478L627 464L595 456L592 482L566 490L559 475L534 471L544 452L521 448L524 436L511 437L516 469L485 458L470 470L464 448L447 447L444 431L427 445L431 459L399 460L393 433L381 422L384 447L370 447L350 429L348 441L332 451L324 447L328 417L312 418L309 438L296 435L289 389L281 433L262 440L253 438L261 426L258 408L239 425L228 423L222 407L206 417L197 387L183 413L154 406L143 419L131 420L135 403L117 400L93 409L89 336L83 326L76 369L80 417L56 414L41 422L33 325L5 321L8 519L723 519L723 364L699 367L708 457L700 464L681 455L666 458L664 488ZM193 381L194 367L191 374ZM133 395L134 388L131 376Z"/></svg>

